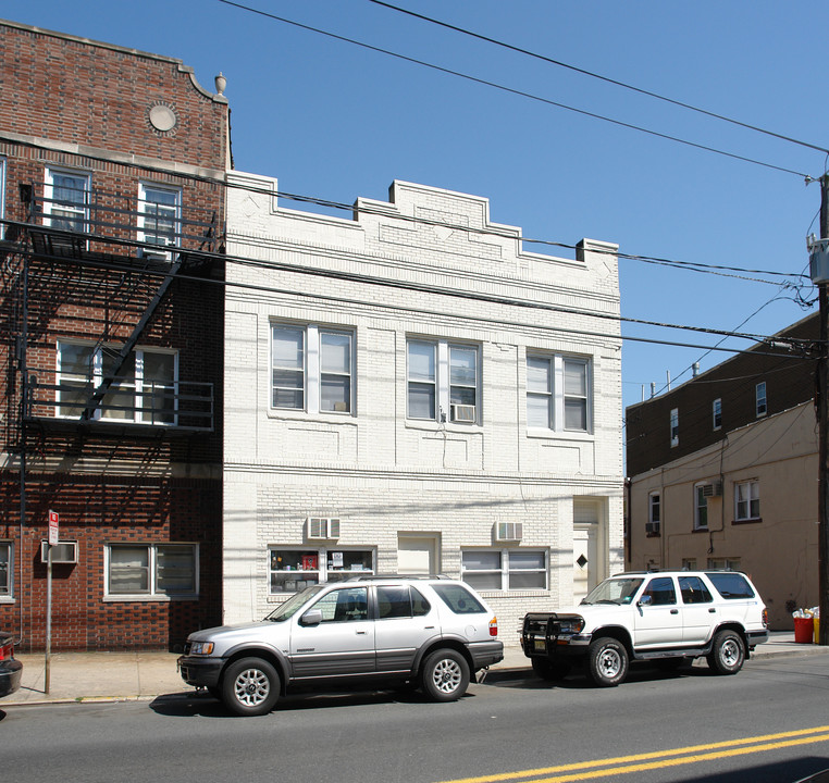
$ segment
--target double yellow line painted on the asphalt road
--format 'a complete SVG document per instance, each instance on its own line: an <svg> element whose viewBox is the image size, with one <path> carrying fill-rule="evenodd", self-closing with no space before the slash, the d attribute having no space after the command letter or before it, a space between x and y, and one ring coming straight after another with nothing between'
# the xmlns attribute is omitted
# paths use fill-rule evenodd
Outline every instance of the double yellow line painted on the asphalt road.
<svg viewBox="0 0 829 783"><path fill-rule="evenodd" d="M495 783L496 781L511 781L511 780L519 780L521 778L534 779L535 783L552 783L553 781L558 782L558 781L566 781L566 780L586 780L587 776L585 775L582 775L581 778L577 775L576 778L567 776L567 778L549 778L549 779L543 779L541 778L541 775L548 775L555 772L570 772L573 770L586 770L592 767L603 767L603 766L607 767L610 765L615 766L614 769L610 771L598 770L590 774L590 776L592 778L597 778L601 775L621 772L618 765L631 765L638 761L648 761L651 759L664 759L663 761L656 762L652 766L634 766L630 769L624 769L626 772L627 771L635 772L640 769L656 769L659 766L665 766L665 767L677 766L681 763L690 763L693 760L704 760L706 758L725 758L726 756L744 755L748 753L754 753L755 750L757 751L774 750L780 747L790 747L792 745L805 745L808 743L825 742L829 739L829 734L820 734L820 736L814 736L814 737L805 736L808 734L818 734L821 732L829 732L829 725L815 726L813 729L800 729L796 731L779 732L777 734L763 734L763 735L754 736L754 737L742 737L740 739L708 743L706 745L690 745L688 747L672 748L668 750L654 750L651 753L634 754L632 756L617 756L615 758L599 759L595 761L577 761L574 763L558 765L556 767L541 767L537 769L519 770L517 772L500 772L497 774L479 775L477 778L458 778L450 781L444 781L443 783ZM769 745L759 746L759 747L757 746L758 743L770 743L771 741L775 741L775 739L788 739L791 737L802 737L802 738L792 739L791 742L769 744ZM741 745L751 745L752 747L741 748L739 747ZM718 750L720 748L731 748L731 750L725 751L722 754L709 753L709 754L698 755L700 751ZM691 755L685 756L686 754L691 754ZM685 758L671 759L670 758L671 756L685 756Z"/></svg>

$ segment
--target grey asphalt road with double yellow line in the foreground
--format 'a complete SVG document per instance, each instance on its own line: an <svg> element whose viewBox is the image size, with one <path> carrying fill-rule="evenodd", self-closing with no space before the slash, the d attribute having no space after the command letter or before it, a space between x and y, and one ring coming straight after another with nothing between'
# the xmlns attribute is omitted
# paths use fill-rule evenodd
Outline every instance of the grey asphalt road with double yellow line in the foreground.
<svg viewBox="0 0 829 783"><path fill-rule="evenodd" d="M10 707L0 779L437 783L785 783L829 768L829 661L635 670L618 688L505 674L458 703L418 694L292 696L262 718L170 694L151 703ZM0 705L1 707L1 705Z"/></svg>

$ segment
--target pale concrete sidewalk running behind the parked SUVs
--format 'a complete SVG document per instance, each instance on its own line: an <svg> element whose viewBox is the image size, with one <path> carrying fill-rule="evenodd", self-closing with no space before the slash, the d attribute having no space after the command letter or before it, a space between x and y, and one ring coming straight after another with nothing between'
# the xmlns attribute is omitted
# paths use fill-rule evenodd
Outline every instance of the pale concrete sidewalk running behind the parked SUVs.
<svg viewBox="0 0 829 783"><path fill-rule="evenodd" d="M511 641L511 639L510 639ZM829 647L795 644L792 632L774 632L753 658L780 655L827 655ZM150 700L164 694L191 692L176 671L175 652L57 652L50 662L50 687L45 693L45 656L15 656L23 662L20 691L0 699L0 709L15 705L79 701ZM504 660L491 672L530 668L521 648L505 648Z"/></svg>

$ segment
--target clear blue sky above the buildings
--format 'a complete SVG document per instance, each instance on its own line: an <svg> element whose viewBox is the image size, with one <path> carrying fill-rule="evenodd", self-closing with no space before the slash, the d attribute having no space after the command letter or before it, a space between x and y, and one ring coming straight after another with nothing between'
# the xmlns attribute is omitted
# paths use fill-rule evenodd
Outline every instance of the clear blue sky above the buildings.
<svg viewBox="0 0 829 783"><path fill-rule="evenodd" d="M4 0L0 16L178 58L227 77L233 153L280 189L351 203L405 179L490 199L527 237L618 243L633 256L807 272L824 152L735 127L411 18L369 0L251 8L477 78L795 173L714 154L368 51L219 0ZM397 0L400 7L710 112L829 147L829 3ZM822 132L822 133L821 133ZM295 204L286 204L295 206ZM535 249L530 247L528 249ZM555 251L554 254L565 254ZM620 261L622 315L768 335L809 310L748 273ZM794 277L789 279L794 281ZM801 294L813 299L811 286ZM746 321L746 319L748 319ZM622 334L714 345L692 332ZM726 346L745 347L744 340ZM727 358L627 340L623 401ZM684 373L684 375L683 375Z"/></svg>

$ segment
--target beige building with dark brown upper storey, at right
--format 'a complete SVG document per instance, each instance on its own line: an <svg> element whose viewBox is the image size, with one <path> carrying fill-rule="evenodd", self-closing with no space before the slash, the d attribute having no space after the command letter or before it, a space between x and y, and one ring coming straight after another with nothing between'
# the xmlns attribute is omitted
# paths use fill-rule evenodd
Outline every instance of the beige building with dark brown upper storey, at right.
<svg viewBox="0 0 829 783"><path fill-rule="evenodd" d="M816 328L804 319L776 336L793 351L755 346L627 409L629 569L745 571L772 630L818 604Z"/></svg>

